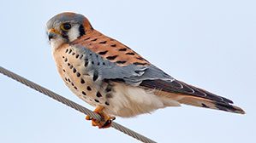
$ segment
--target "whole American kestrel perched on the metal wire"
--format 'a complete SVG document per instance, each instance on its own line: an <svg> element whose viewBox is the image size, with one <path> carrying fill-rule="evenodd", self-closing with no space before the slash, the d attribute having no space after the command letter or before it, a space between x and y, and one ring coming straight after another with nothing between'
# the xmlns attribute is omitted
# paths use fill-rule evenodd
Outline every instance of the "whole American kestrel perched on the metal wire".
<svg viewBox="0 0 256 143"><path fill-rule="evenodd" d="M134 117L181 104L244 114L232 100L196 88L153 66L128 46L95 30L82 14L62 13L47 22L57 71L110 127L115 116Z"/></svg>

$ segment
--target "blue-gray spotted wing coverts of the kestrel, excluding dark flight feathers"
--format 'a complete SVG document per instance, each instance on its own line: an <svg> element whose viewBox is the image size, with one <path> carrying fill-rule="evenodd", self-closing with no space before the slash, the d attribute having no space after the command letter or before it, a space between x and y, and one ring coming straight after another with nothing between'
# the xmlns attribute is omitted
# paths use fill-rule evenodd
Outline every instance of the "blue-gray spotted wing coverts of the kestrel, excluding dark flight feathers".
<svg viewBox="0 0 256 143"><path fill-rule="evenodd" d="M76 47L79 46L76 45ZM134 64L119 66L90 49L79 47L79 50L81 54L85 55L87 72L101 79L120 80L131 85L140 85L144 80L162 79L170 82L174 80L173 77L170 77L156 66L138 66Z"/></svg>

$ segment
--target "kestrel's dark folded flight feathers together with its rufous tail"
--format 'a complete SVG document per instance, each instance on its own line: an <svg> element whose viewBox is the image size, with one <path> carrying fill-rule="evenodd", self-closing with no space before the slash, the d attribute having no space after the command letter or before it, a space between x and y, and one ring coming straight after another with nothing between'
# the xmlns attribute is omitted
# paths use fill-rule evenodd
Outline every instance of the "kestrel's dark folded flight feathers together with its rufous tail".
<svg viewBox="0 0 256 143"><path fill-rule="evenodd" d="M232 100L217 94L212 94L204 89L196 88L178 80L146 80L140 83L140 86L154 89L154 94L165 96L170 100L175 100L181 104L245 114L240 107L232 105Z"/></svg>

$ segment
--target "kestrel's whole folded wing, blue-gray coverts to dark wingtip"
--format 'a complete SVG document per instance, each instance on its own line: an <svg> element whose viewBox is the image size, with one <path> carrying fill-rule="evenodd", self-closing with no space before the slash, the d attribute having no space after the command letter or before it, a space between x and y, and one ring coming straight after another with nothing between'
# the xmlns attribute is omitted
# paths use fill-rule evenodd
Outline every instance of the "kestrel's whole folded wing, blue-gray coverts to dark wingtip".
<svg viewBox="0 0 256 143"><path fill-rule="evenodd" d="M212 94L204 89L199 89L178 81L156 66L138 66L134 64L118 66L115 62L104 59L90 49L79 45L76 45L76 47L79 48L80 53L86 55L86 70L92 75L93 80L112 80L127 83L132 86L159 89L169 93L193 95L223 103L233 103L231 100Z"/></svg>

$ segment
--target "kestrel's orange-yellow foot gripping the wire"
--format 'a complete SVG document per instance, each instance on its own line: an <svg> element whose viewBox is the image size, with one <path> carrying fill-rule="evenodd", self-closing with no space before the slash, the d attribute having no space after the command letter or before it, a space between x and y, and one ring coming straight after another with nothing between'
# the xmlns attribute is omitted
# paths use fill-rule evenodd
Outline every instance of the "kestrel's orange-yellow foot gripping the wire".
<svg viewBox="0 0 256 143"><path fill-rule="evenodd" d="M97 106L93 112L98 113L101 117L100 120L94 119L92 117L86 116L86 120L92 120L92 126L98 126L98 129L106 129L111 126L113 120L116 117L110 117L106 113L103 112L104 106Z"/></svg>

